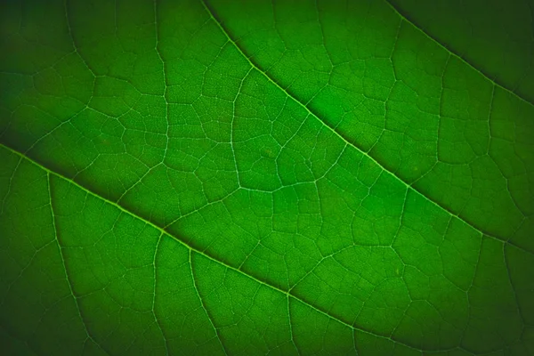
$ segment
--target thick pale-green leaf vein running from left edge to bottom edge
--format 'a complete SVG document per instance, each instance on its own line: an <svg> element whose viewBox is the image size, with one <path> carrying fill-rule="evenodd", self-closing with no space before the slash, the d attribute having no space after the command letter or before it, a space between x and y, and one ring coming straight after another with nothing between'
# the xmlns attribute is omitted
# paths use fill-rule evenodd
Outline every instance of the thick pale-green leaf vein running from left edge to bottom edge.
<svg viewBox="0 0 534 356"><path fill-rule="evenodd" d="M297 301L299 303L303 303L304 305L308 306L309 308L312 308L313 311L319 312L321 315L326 316L329 320L334 320L334 321L344 325L347 328L351 328L352 331L359 331L360 333L367 334L367 335L370 335L370 336L375 336L375 337L378 337L378 338L381 338L381 339L384 339L384 340L389 340L389 341L392 341L393 343L401 344L401 345L406 346L406 347L408 347L410 349L419 351L419 349L417 349L416 347L414 347L414 346L412 346L410 344L405 344L405 343L403 343L401 341L395 340L392 337L383 336L383 335L380 335L380 334L376 334L375 332L368 331L368 330L366 330L364 328L355 327L354 325L350 324L347 321L341 320L338 317L329 314L328 312L322 311L319 307L313 305L312 303L309 303L309 302L305 301L302 297L300 297L298 295L294 295L293 292L291 292L291 291L287 291L287 290L281 289L279 287L273 286L273 285L269 284L268 282L265 282L265 281L263 281L261 279L258 279L258 278L256 278L255 276L253 276L251 274L247 274L245 271L241 271L239 268L233 267L230 264L227 264L227 263L224 263L222 261L219 261L215 257L212 257L211 255L208 255L208 253L206 253L205 251L199 250L196 247L192 247L192 246L188 245L188 243L183 241L180 237L175 236L174 234L172 234L169 231L166 231L165 228L163 228L161 226L158 226L156 223L152 223L149 220L143 218L142 216L131 212L130 210L126 209L123 206L120 206L116 202L111 201L108 198L102 197L98 193L93 192L93 190L90 190L89 188L85 188L85 186L80 185L79 183L73 181L72 179L66 177L65 175L62 175L62 174L57 173L57 172L54 172L53 170L47 168L46 166L41 165L40 163L38 163L37 161L33 160L32 158L28 158L28 157L24 156L18 150L14 150L9 146L4 145L4 143L0 143L0 147L3 147L5 150L8 150L12 154L17 155L20 158L26 159L30 164L43 169L44 172L46 172L47 175L49 175L49 176L54 175L54 176L60 178L63 181L69 182L70 184L72 184L73 186L77 187L78 189L85 191L85 193L91 195L92 197L98 198L98 199L104 201L105 203L107 203L107 204L109 204L111 206L115 206L121 212L123 212L125 214L128 214L128 215L134 217L135 219L138 219L138 220L142 221L143 223L146 223L150 227L152 227L152 228L156 229L157 231L160 231L160 232L166 234L167 236L169 236L170 238L174 239L176 242L178 242L179 244L181 244L183 247L187 248L191 252L195 252L198 255L203 255L204 257L206 257L207 259L213 261L214 263L221 264L225 268L227 268L227 269L229 269L231 271L235 271L235 272L239 273L240 275L243 275L243 276L247 277L248 279L255 280L255 282L263 285L264 287L268 287L268 288L273 289L273 290L275 290L275 291L277 291L277 292L279 292L279 293L281 293L283 295L287 295L288 298L292 298L292 299L294 299L295 301ZM500 242L502 242L502 241L500 241ZM456 350L456 349L457 348L451 348L450 350ZM432 350L429 350L429 351L432 351ZM444 351L449 351L449 350L435 350L435 351L444 352Z"/></svg>

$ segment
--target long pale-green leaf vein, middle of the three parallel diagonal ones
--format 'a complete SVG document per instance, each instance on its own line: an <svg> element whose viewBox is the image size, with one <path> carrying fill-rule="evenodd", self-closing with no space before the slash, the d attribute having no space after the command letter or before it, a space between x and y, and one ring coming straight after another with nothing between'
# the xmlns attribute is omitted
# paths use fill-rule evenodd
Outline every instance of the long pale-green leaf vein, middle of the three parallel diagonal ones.
<svg viewBox="0 0 534 356"><path fill-rule="evenodd" d="M214 20L214 23L217 25L218 28L221 29L221 31L223 32L223 35L226 36L226 38L228 39L229 42L231 42L231 44L233 44L236 49L239 51L239 53L241 53L241 55L248 61L248 63L250 64L250 66L252 66L252 68L254 68L255 70L257 70L260 74L263 75L263 77L265 77L269 82L271 82L272 85L275 85L277 88L279 88L279 90L281 90L283 93L285 93L287 95L288 98L291 98L291 100L295 101L296 104L298 104L300 107L302 107L303 109L306 110L306 112L309 114L309 116L311 117L314 117L316 120L318 120L322 125L325 125L328 130L330 130L333 134L335 134L338 138L340 138L341 140L343 140L346 144L348 145L351 145L354 149L358 150L362 155L364 155L365 157L367 157L368 159L370 159L372 162L374 162L376 164L376 166L379 166L386 174L390 174L392 175L392 177L394 177L397 181L401 182L402 184L404 184L409 190L413 190L415 193L417 193L418 195L420 195L421 197L425 198L426 200L428 200L429 202L431 202L434 206L437 206L438 208L440 208L441 210L445 211L446 213L448 213L449 215L452 215L454 217L456 217L458 220L460 220L461 222L465 223L466 225L470 226L473 230L475 231L478 231L480 232L482 235L485 235L487 236L488 238L490 239L496 239L498 240L499 242L504 242L510 246L513 246L513 247L516 247L516 248L519 248L521 249L523 252L529 254L529 255L534 255L534 252L531 252L527 249L525 249L524 247L520 247L518 245L516 245L514 242L511 242L509 240L505 240L505 239L499 239L498 237L495 237L493 235L491 235L488 231L483 231L480 227L476 226L475 223L471 223L469 222L467 219L465 219L464 217L460 216L460 214L455 214L453 213L451 210L449 210L449 208L447 206L442 206L440 203L438 203L437 201L434 201L433 199L431 198L428 198L425 196L425 194L423 194L422 192L420 192L419 190L417 190L415 187L413 187L412 184L409 184L407 182L404 182L402 180L402 178L397 175L397 174L394 174L392 173L391 171L389 171L384 165L382 165L380 162L378 162L375 158L373 158L372 156L370 156L367 152L365 152L364 150L361 150L358 146L356 146L354 143L350 142L349 140L347 140L346 138L344 138L343 134L340 134L336 131L336 128L331 126L331 125L328 125L323 119L320 118L320 116L316 113L314 113L312 111L312 109L310 109L307 104L303 104L301 101L299 101L295 95L287 92L287 89L284 89L281 85L279 85L273 78L271 78L263 69L261 69L256 63L255 61L252 60L252 58L250 56L247 55L247 53L244 52L244 50L236 43L236 41L232 38L232 36L230 36L230 33L228 32L228 29L224 27L223 25L223 22L221 20L218 19L217 15L216 15L216 12L214 12L214 9L213 7L210 5L210 4L207 4L206 3L206 0L202 0L201 1L202 5L204 6L206 12L209 14L209 16L211 17L212 20Z"/></svg>

